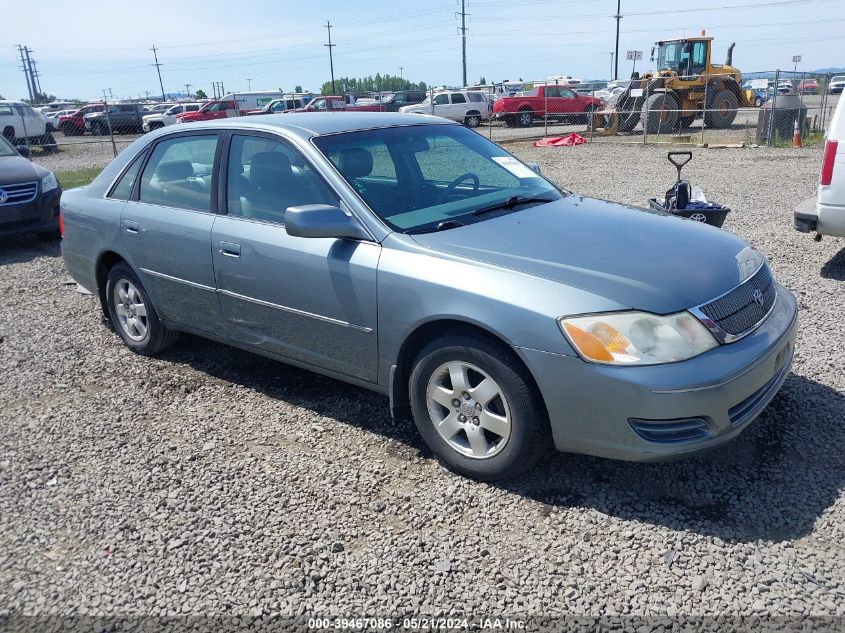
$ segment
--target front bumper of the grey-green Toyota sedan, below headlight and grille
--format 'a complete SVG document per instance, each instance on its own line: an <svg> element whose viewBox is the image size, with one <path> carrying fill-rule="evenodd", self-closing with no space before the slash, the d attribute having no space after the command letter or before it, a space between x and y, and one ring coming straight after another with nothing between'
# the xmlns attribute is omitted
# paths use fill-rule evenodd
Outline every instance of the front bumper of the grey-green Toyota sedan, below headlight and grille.
<svg viewBox="0 0 845 633"><path fill-rule="evenodd" d="M555 447L629 461L685 457L727 442L774 398L795 349L795 298L777 286L751 334L679 363L620 367L516 348L546 403Z"/></svg>

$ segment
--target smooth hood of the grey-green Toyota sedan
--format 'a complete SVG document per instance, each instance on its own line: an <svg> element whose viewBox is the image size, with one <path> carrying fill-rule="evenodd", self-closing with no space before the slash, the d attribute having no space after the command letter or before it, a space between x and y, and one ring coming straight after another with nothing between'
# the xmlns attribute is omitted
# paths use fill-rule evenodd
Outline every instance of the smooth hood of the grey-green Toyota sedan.
<svg viewBox="0 0 845 633"><path fill-rule="evenodd" d="M706 303L764 261L726 231L575 194L413 239L656 314Z"/></svg>

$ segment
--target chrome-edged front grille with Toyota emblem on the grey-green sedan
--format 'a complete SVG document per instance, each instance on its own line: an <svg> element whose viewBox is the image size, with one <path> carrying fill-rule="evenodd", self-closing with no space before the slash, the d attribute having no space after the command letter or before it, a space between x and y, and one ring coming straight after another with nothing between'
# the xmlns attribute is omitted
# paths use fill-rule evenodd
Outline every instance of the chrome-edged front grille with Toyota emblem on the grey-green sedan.
<svg viewBox="0 0 845 633"><path fill-rule="evenodd" d="M775 303L775 282L764 264L754 276L699 309L722 330L738 336L757 327Z"/></svg>

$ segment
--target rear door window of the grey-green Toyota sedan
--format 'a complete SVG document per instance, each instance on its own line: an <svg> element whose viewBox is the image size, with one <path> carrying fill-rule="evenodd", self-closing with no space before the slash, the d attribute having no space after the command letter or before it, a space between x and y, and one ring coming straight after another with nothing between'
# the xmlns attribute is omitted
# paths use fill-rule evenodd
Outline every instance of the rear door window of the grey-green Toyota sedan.
<svg viewBox="0 0 845 633"><path fill-rule="evenodd" d="M141 176L140 201L211 210L217 135L182 136L158 143Z"/></svg>

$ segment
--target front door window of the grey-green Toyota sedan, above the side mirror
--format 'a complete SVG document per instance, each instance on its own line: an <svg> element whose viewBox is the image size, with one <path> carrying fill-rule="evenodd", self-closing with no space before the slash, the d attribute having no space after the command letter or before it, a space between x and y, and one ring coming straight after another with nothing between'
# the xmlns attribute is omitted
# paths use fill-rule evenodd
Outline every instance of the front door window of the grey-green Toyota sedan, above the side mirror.
<svg viewBox="0 0 845 633"><path fill-rule="evenodd" d="M232 137L226 191L229 215L280 224L288 207L338 204L298 151L260 136Z"/></svg>

